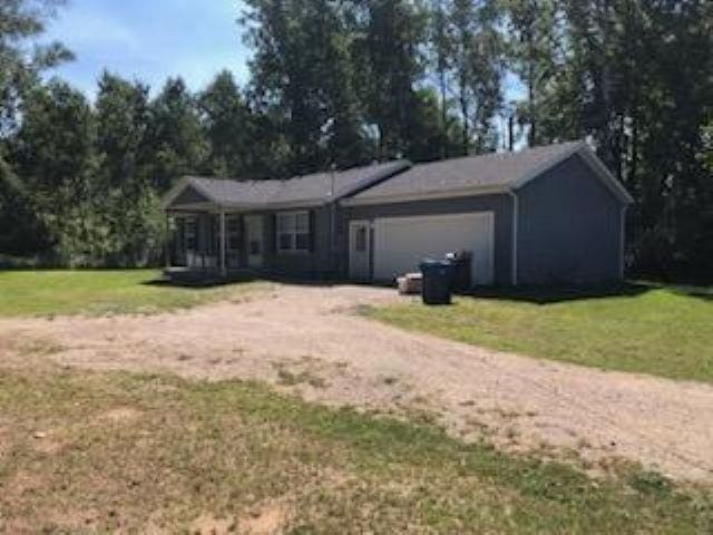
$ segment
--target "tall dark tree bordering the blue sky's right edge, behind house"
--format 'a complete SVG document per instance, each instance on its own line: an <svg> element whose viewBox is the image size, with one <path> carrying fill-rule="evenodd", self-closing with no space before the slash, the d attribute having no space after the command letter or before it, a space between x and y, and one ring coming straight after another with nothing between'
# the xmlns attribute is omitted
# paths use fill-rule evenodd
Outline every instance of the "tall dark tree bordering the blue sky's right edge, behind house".
<svg viewBox="0 0 713 535"><path fill-rule="evenodd" d="M293 173L364 159L345 28L348 3L247 2L243 23L254 49L254 94L263 113L280 117Z"/></svg>

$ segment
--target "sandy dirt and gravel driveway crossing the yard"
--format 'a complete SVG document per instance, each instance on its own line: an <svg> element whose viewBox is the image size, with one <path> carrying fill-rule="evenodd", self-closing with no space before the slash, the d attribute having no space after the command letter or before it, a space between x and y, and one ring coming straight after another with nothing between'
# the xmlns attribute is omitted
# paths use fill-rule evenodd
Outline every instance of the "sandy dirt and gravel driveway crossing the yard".
<svg viewBox="0 0 713 535"><path fill-rule="evenodd" d="M456 436L485 434L506 449L572 450L597 468L623 458L713 481L713 387L485 350L354 313L394 299L377 288L281 285L153 317L2 320L0 356L266 380L310 400L437 418Z"/></svg>

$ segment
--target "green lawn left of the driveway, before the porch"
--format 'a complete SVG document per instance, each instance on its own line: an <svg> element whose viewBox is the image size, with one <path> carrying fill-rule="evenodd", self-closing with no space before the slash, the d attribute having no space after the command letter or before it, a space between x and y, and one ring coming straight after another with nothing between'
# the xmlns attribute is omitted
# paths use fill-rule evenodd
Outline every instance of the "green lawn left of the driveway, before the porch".
<svg viewBox="0 0 713 535"><path fill-rule="evenodd" d="M0 272L0 317L152 313L227 299L255 284L179 288L158 270Z"/></svg>

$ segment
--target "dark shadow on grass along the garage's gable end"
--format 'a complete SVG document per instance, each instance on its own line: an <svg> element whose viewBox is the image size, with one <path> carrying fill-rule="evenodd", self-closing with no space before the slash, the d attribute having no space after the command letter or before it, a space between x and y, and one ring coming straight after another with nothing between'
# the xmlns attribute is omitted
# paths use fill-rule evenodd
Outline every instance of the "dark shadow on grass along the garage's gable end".
<svg viewBox="0 0 713 535"><path fill-rule="evenodd" d="M519 301L534 304L554 304L607 298L635 298L654 290L645 283L621 283L606 286L518 286L479 288L462 295L502 301Z"/></svg>

